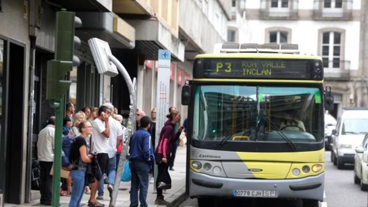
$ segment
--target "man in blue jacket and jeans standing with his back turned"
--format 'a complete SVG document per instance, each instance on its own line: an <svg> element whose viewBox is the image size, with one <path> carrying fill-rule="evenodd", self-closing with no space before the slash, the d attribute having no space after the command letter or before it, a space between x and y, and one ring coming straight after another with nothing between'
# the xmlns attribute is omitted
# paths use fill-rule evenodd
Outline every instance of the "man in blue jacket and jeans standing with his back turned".
<svg viewBox="0 0 368 207"><path fill-rule="evenodd" d="M151 135L147 131L151 127L151 118L144 116L141 118L141 128L132 135L130 139L130 158L129 166L132 174L130 189L130 207L138 206L138 188L139 202L141 207L146 207L148 192L148 177L152 162L155 161L153 154Z"/></svg>

